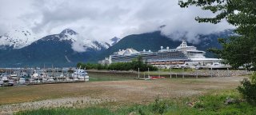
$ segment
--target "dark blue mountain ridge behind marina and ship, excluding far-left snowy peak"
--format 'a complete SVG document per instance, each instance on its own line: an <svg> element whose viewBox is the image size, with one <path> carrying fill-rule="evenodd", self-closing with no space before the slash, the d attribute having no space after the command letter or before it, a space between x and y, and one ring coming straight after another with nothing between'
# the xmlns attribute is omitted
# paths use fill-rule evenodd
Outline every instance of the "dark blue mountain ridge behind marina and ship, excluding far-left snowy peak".
<svg viewBox="0 0 256 115"><path fill-rule="evenodd" d="M198 50L204 51L210 47L221 48L218 44L218 38L226 38L229 34L232 34L231 31L198 35L201 43L194 46L198 47ZM126 48L155 52L160 50L160 46L176 48L181 43L163 36L160 31L131 34L122 39L112 38L112 42L88 39L81 42L78 37L78 33L74 30L62 30L59 34L47 35L21 49L11 47L0 49L0 67L51 67L52 65L55 67L69 67L75 66L78 62L97 62L118 50L125 50ZM114 44L111 46L111 43ZM188 45L191 46L192 44L188 43ZM75 51L74 46L81 51ZM209 53L206 55L211 56Z"/></svg>

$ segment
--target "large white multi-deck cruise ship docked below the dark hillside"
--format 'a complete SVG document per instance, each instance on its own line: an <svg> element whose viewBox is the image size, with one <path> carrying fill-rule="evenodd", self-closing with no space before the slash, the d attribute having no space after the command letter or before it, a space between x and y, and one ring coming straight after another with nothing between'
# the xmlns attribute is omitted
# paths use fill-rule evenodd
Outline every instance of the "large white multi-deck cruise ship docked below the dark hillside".
<svg viewBox="0 0 256 115"><path fill-rule="evenodd" d="M161 46L158 52L150 50L137 51L132 48L126 50L119 50L114 54L107 57L105 60L100 61L102 64L111 64L115 62L128 62L132 61L138 56L142 56L143 61L151 65L177 65L177 64L190 64L190 65L206 65L206 63L214 63L222 61L217 58L207 58L204 55L206 52L197 50L194 46L187 46L186 41L183 40L182 44L176 49L166 49Z"/></svg>

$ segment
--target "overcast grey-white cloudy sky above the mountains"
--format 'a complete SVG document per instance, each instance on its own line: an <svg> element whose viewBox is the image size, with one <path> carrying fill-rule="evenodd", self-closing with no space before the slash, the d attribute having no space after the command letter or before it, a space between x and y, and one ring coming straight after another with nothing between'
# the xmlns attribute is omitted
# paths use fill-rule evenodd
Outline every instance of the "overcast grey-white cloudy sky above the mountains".
<svg viewBox="0 0 256 115"><path fill-rule="evenodd" d="M225 21L207 24L196 16L212 17L197 7L182 9L178 0L1 0L0 34L25 27L38 35L58 34L66 28L84 38L106 40L142 34L166 25L162 34L198 42L197 34L230 29Z"/></svg>

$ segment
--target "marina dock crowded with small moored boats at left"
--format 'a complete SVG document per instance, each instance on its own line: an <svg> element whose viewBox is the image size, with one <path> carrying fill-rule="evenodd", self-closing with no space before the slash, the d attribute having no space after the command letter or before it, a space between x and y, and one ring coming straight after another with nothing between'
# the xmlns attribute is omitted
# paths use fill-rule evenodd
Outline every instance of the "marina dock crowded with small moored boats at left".
<svg viewBox="0 0 256 115"><path fill-rule="evenodd" d="M84 69L74 68L9 68L0 69L0 86L42 85L89 81Z"/></svg>

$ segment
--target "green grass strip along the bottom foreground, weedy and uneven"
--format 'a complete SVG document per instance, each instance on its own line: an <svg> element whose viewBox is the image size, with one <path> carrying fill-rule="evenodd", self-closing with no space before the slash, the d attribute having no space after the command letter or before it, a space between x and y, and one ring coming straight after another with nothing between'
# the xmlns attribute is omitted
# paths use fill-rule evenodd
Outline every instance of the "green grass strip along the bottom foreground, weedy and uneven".
<svg viewBox="0 0 256 115"><path fill-rule="evenodd" d="M234 103L225 104L226 97L233 98ZM187 103L193 103L193 106ZM111 109L106 107L90 107L85 109L58 108L58 109L38 109L17 113L23 114L218 114L218 115L234 115L234 114L254 114L256 106L249 105L246 101L242 101L236 90L212 91L206 95L198 97L175 98L161 100L158 97L149 105L129 105L122 106L119 109Z"/></svg>

